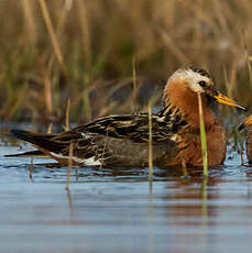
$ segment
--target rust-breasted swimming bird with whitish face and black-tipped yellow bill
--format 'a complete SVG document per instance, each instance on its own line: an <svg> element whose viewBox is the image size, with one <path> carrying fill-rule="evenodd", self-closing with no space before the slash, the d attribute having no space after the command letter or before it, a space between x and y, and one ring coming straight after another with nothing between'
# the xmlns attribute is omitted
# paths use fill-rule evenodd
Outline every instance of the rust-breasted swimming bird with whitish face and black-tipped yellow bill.
<svg viewBox="0 0 252 253"><path fill-rule="evenodd" d="M208 164L223 163L227 146L224 130L211 105L219 102L241 110L245 108L221 95L210 73L189 67L176 70L168 78L164 88L164 108L152 114L154 166L202 165L198 94L202 98ZM23 130L11 130L10 133L30 142L61 164L68 163L72 144L74 165L145 167L149 165L149 114L142 112L103 117L56 134Z"/></svg>

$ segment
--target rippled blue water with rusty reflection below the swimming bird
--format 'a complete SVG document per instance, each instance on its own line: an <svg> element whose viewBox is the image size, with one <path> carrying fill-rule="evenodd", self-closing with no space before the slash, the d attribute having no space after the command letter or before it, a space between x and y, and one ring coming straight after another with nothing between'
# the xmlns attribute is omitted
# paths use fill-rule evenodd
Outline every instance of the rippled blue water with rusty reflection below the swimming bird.
<svg viewBox="0 0 252 253"><path fill-rule="evenodd" d="M72 173L7 158L0 146L0 252L250 252L252 168L232 153L206 182L196 170L101 169ZM52 162L52 161L51 161Z"/></svg>

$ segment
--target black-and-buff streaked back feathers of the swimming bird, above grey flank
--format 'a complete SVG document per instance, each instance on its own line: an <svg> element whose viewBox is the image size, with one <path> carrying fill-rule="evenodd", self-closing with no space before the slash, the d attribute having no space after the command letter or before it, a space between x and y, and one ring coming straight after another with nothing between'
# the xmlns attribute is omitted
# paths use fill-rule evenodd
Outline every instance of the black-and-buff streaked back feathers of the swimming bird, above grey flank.
<svg viewBox="0 0 252 253"><path fill-rule="evenodd" d="M149 123L147 113L111 116L77 127L73 131L145 143L149 141ZM158 114L152 116L152 140L153 142L168 140L186 124L187 122L174 107L166 107Z"/></svg>

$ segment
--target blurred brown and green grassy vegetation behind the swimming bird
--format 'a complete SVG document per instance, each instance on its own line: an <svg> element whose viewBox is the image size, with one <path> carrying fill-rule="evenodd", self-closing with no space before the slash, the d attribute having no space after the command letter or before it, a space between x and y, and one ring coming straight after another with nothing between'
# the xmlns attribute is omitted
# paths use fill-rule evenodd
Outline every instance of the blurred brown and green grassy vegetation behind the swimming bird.
<svg viewBox="0 0 252 253"><path fill-rule="evenodd" d="M252 106L251 0L1 0L1 121L145 110L196 64Z"/></svg>

